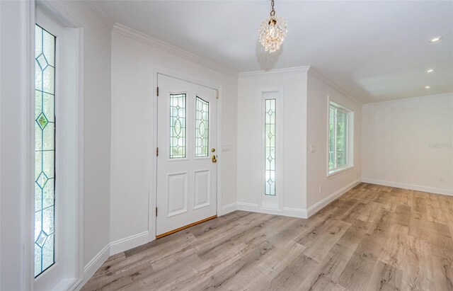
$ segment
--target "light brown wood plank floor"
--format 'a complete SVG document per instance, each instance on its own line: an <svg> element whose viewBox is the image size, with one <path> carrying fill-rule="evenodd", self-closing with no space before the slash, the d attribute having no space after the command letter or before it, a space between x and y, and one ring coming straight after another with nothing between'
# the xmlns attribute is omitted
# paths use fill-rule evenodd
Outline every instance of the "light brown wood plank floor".
<svg viewBox="0 0 453 291"><path fill-rule="evenodd" d="M309 219L232 212L112 256L82 290L453 290L453 197L362 183Z"/></svg>

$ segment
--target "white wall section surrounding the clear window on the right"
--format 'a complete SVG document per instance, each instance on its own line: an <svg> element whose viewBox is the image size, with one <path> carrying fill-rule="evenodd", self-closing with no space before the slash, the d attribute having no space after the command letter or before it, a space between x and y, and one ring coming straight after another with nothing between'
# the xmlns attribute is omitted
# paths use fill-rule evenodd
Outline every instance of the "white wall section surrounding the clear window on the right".
<svg viewBox="0 0 453 291"><path fill-rule="evenodd" d="M343 105L354 115L354 166L336 176L327 177L328 166L328 99ZM310 69L308 76L307 109L307 208L309 215L343 194L361 177L361 108L362 105L346 96ZM310 152L311 145L315 152ZM322 186L319 193L319 186Z"/></svg>

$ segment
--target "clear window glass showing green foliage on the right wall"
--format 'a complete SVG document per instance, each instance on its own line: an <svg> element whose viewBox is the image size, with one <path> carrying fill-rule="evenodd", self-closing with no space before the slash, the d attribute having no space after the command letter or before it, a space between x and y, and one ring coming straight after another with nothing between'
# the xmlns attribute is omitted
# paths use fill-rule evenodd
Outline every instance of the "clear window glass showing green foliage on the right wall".
<svg viewBox="0 0 453 291"><path fill-rule="evenodd" d="M349 147L352 134L352 113L341 105L329 104L328 173L335 173L352 166Z"/></svg>

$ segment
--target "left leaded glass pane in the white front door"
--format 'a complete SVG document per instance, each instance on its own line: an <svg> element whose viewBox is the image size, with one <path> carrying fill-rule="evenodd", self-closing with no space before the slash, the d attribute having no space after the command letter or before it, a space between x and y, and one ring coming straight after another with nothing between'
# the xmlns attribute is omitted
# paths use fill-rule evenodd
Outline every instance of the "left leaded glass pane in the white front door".
<svg viewBox="0 0 453 291"><path fill-rule="evenodd" d="M185 158L185 93L170 94L170 159Z"/></svg>

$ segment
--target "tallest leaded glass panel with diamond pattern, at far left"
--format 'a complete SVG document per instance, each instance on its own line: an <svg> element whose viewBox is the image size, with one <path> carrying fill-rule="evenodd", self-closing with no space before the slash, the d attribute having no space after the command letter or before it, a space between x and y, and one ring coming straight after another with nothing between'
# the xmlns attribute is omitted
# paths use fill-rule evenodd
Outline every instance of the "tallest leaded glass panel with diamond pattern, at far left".
<svg viewBox="0 0 453 291"><path fill-rule="evenodd" d="M55 263L55 36L35 25L35 277Z"/></svg>

